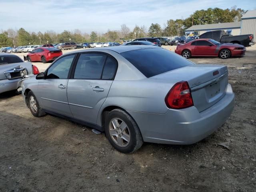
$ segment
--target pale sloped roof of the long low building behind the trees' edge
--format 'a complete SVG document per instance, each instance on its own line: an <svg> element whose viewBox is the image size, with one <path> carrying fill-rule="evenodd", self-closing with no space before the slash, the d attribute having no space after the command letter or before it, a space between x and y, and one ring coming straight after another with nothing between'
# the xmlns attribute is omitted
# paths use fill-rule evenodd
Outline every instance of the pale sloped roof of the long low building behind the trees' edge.
<svg viewBox="0 0 256 192"><path fill-rule="evenodd" d="M216 24L205 24L205 25L193 25L185 31L195 30L208 30L208 29L228 29L228 28L240 28L241 22L231 23L216 23Z"/></svg>

